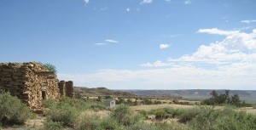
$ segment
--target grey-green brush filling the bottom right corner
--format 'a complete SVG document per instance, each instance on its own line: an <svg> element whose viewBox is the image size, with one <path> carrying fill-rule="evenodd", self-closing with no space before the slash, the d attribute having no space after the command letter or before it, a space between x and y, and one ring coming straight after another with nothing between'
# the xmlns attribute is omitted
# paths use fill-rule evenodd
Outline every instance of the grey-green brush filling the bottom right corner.
<svg viewBox="0 0 256 130"><path fill-rule="evenodd" d="M216 110L213 107L201 107L188 110L180 121L187 122L194 129L247 130L256 129L256 116L246 111L236 112L232 108Z"/></svg>

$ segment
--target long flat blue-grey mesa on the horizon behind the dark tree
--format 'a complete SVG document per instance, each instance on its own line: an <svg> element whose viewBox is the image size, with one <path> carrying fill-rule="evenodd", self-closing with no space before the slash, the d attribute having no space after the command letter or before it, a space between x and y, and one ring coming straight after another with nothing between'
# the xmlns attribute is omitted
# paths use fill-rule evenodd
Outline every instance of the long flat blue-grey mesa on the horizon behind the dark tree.
<svg viewBox="0 0 256 130"><path fill-rule="evenodd" d="M183 99L207 99L211 95L211 89L181 89L181 90L120 90L123 92L141 95L156 96L181 96ZM217 90L218 93L224 93L225 90ZM256 90L230 90L230 94L239 94L241 100L247 103L256 104Z"/></svg>

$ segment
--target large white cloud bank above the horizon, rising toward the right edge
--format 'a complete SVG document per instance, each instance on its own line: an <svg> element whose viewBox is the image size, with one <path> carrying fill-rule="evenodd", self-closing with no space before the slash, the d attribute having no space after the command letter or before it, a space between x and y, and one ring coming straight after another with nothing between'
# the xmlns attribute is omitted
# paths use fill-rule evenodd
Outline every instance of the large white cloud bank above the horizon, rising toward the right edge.
<svg viewBox="0 0 256 130"><path fill-rule="evenodd" d="M256 29L251 33L218 29L200 31L225 37L220 42L201 45L193 54L168 59L166 62L157 60L143 64L141 66L146 68L142 70L105 69L91 74L58 76L60 79L73 80L77 86L86 84L88 87L255 89Z"/></svg>

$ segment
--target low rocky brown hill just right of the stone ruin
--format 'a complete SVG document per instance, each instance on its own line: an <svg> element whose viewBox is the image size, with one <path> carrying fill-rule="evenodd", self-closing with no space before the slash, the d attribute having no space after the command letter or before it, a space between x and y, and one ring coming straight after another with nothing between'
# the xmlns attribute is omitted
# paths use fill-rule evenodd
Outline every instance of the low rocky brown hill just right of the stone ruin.
<svg viewBox="0 0 256 130"><path fill-rule="evenodd" d="M123 92L118 90L110 90L108 88L85 88L74 87L75 93L81 93L86 97L113 96L113 97L136 97L134 93Z"/></svg>

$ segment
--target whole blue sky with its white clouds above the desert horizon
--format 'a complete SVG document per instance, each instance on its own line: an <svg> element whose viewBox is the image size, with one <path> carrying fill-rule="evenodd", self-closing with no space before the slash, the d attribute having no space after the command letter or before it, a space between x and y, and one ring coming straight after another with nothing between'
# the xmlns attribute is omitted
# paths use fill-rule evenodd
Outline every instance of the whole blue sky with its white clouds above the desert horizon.
<svg viewBox="0 0 256 130"><path fill-rule="evenodd" d="M255 89L254 0L0 0L0 62L77 86Z"/></svg>

